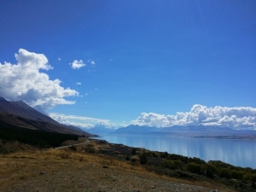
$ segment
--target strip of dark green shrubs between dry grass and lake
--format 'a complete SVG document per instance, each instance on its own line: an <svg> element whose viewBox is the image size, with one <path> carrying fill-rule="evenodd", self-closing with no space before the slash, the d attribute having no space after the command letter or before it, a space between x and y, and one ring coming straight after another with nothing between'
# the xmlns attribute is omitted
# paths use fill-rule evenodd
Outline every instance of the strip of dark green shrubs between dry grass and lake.
<svg viewBox="0 0 256 192"><path fill-rule="evenodd" d="M133 165L140 164L148 172L189 181L222 183L238 191L256 191L256 170L250 167L232 166L219 160L206 162L195 157L129 148L119 144L110 144L104 148L101 141L97 143L102 146L98 150L99 153L111 155L119 160L129 160Z"/></svg>

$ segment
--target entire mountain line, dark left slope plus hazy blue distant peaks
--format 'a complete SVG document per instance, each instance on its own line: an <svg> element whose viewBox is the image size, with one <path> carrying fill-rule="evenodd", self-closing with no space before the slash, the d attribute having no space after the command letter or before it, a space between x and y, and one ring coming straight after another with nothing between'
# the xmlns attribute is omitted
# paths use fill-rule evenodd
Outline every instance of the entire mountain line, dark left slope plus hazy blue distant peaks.
<svg viewBox="0 0 256 192"><path fill-rule="evenodd" d="M15 125L34 130L53 131L93 137L96 135L173 135L173 136L239 136L256 135L252 130L234 130L230 127L219 127L214 125L174 125L171 127L153 127L147 125L128 125L116 129L108 125L98 124L90 129L81 129L73 125L62 125L49 116L38 112L26 102L9 102L0 97L0 128L1 126ZM87 132L89 131L89 132ZM94 135L96 134L96 135Z"/></svg>

